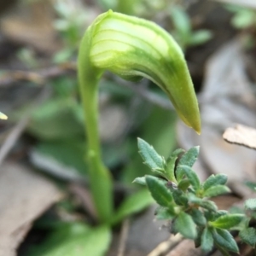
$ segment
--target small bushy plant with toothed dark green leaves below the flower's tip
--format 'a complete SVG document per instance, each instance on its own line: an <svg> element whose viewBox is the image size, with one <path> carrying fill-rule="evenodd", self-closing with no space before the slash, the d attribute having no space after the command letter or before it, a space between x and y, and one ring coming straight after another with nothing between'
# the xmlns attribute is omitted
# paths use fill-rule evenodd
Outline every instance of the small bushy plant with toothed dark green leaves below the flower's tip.
<svg viewBox="0 0 256 256"><path fill-rule="evenodd" d="M193 239L195 246L201 246L206 252L215 245L224 255L239 252L230 230L242 230L242 241L255 245L255 236L249 236L255 234L255 230L241 228L241 222L246 220L245 215L218 210L210 200L212 196L230 192L225 185L227 176L212 175L201 183L193 171L199 147L190 148L187 152L179 148L167 160L142 139L138 139L138 148L144 163L158 177L137 177L134 182L148 187L159 205L156 218L169 220L172 234L180 233ZM182 156L178 160L180 154ZM256 201L247 201L246 207L255 211Z"/></svg>

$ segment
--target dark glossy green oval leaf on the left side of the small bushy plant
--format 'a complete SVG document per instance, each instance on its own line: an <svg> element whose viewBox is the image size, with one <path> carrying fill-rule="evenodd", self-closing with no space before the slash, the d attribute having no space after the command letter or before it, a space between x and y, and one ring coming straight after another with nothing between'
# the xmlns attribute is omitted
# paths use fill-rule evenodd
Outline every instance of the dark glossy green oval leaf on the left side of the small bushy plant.
<svg viewBox="0 0 256 256"><path fill-rule="evenodd" d="M154 176L146 176L148 189L154 200L162 207L172 207L172 193L166 187L164 180Z"/></svg>

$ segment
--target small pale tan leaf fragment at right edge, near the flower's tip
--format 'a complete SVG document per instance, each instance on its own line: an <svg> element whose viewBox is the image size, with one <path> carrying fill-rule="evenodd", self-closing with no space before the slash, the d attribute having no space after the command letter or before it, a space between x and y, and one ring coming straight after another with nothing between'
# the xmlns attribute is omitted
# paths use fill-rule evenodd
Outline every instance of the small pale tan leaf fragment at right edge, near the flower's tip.
<svg viewBox="0 0 256 256"><path fill-rule="evenodd" d="M247 148L256 149L256 130L245 125L236 125L224 131L224 140L228 143L234 143Z"/></svg>

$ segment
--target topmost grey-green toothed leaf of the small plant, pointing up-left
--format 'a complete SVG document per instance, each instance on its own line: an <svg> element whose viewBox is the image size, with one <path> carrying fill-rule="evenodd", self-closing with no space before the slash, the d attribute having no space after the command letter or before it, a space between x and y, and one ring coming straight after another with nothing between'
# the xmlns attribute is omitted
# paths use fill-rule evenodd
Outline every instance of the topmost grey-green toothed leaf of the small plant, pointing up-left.
<svg viewBox="0 0 256 256"><path fill-rule="evenodd" d="M152 146L143 141L143 139L138 138L137 144L139 148L139 154L141 154L144 163L154 170L163 170L165 169L165 160L157 154Z"/></svg>

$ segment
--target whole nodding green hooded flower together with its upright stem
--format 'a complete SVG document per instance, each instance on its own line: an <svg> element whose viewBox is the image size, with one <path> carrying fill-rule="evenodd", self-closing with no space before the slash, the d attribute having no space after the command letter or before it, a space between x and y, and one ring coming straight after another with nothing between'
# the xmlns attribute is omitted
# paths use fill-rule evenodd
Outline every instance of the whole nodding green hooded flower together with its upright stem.
<svg viewBox="0 0 256 256"><path fill-rule="evenodd" d="M87 29L79 49L79 84L84 105L90 187L100 220L113 212L113 184L104 167L98 135L97 90L109 70L123 79L147 78L164 90L183 122L201 131L195 90L183 52L167 32L148 20L109 10Z"/></svg>

